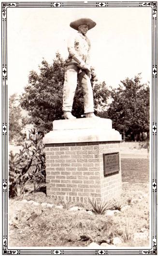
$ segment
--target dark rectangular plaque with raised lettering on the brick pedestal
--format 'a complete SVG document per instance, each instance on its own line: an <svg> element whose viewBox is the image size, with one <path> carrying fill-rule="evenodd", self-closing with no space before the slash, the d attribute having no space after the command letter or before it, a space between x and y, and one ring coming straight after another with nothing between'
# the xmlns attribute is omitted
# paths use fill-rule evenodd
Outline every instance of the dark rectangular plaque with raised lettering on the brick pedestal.
<svg viewBox="0 0 158 256"><path fill-rule="evenodd" d="M104 175L119 171L119 153L103 154Z"/></svg>

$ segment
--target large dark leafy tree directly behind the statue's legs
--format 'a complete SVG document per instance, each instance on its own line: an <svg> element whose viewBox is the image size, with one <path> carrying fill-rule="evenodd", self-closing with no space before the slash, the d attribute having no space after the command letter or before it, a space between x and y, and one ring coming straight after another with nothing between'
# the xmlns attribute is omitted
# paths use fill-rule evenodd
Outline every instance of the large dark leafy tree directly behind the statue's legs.
<svg viewBox="0 0 158 256"><path fill-rule="evenodd" d="M40 130L52 130L52 121L62 119L62 95L64 84L65 61L57 52L53 64L49 65L42 61L40 74L35 71L29 73L29 85L25 87L25 92L20 98L21 106L28 111L35 124ZM94 68L91 69L91 83L94 91L94 105L96 113L100 112L107 104L109 90L105 82L98 83ZM77 118L84 114L82 89L77 85L72 106L72 114Z"/></svg>

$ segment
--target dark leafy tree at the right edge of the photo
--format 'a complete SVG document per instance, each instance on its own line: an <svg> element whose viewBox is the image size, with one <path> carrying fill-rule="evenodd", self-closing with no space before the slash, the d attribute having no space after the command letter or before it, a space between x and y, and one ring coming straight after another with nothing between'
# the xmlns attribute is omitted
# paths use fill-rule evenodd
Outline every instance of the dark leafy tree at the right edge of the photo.
<svg viewBox="0 0 158 256"><path fill-rule="evenodd" d="M113 126L125 138L129 134L149 132L149 86L141 84L140 74L126 78L111 91L113 102L108 116Z"/></svg>

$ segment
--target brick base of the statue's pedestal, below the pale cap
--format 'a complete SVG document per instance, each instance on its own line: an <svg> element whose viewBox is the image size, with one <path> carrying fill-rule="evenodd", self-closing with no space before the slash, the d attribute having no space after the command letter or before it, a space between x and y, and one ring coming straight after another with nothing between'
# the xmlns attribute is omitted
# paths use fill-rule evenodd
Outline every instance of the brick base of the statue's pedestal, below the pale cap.
<svg viewBox="0 0 158 256"><path fill-rule="evenodd" d="M103 154L119 152L119 142L46 144L47 195L86 202L88 197L111 199L121 189L119 173L103 175Z"/></svg>

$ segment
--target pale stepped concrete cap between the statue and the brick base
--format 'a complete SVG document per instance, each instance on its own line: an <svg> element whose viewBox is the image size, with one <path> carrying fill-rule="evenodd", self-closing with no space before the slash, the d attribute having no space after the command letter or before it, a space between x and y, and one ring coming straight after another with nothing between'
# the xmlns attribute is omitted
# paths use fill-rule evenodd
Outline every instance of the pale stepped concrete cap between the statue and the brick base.
<svg viewBox="0 0 158 256"><path fill-rule="evenodd" d="M112 129L112 120L104 118L55 120L53 131L43 137L44 144L121 140L120 133Z"/></svg>

